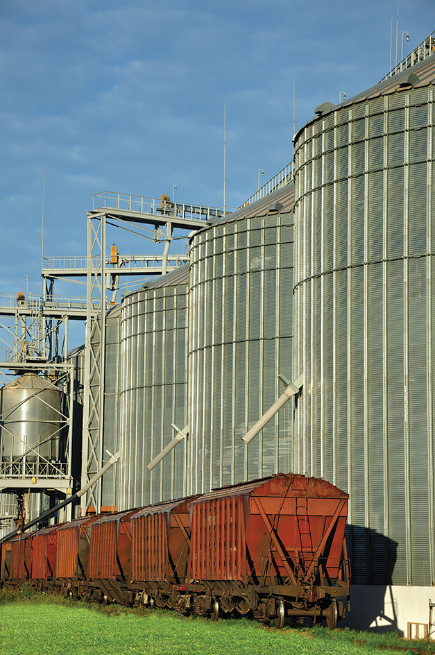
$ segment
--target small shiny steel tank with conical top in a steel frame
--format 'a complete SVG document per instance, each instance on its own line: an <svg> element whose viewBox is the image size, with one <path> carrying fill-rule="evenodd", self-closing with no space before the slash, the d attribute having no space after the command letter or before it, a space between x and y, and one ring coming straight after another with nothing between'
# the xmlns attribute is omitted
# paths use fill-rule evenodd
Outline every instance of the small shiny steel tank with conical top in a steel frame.
<svg viewBox="0 0 435 655"><path fill-rule="evenodd" d="M37 373L0 389L1 461L35 463L59 457L62 391Z"/></svg>

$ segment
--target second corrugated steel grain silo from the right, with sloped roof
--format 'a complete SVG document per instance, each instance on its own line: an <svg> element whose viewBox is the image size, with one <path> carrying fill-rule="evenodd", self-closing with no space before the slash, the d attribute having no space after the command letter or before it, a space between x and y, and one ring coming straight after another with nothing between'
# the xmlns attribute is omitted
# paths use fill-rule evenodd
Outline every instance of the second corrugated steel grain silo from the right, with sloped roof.
<svg viewBox="0 0 435 655"><path fill-rule="evenodd" d="M291 378L289 184L191 237L189 493L291 470L291 408L241 437Z"/></svg>

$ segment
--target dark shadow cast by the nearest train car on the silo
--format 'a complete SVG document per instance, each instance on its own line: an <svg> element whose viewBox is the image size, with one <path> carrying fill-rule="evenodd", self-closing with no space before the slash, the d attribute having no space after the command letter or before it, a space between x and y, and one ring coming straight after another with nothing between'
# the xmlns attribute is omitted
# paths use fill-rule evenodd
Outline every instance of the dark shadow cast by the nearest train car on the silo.
<svg viewBox="0 0 435 655"><path fill-rule="evenodd" d="M397 542L359 525L348 525L346 541L352 570L350 613L340 627L402 634L391 588Z"/></svg>

